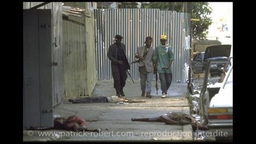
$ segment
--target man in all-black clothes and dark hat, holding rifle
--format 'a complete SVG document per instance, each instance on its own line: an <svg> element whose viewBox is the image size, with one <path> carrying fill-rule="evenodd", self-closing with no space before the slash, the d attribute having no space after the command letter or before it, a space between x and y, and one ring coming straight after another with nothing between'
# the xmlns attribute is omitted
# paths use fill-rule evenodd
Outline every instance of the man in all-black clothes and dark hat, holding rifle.
<svg viewBox="0 0 256 144"><path fill-rule="evenodd" d="M127 69L130 69L130 64L126 57L126 46L121 43L122 36L116 35L114 44L108 48L108 59L111 60L111 70L114 79L114 88L116 89L116 96L124 96L123 88L126 84Z"/></svg>

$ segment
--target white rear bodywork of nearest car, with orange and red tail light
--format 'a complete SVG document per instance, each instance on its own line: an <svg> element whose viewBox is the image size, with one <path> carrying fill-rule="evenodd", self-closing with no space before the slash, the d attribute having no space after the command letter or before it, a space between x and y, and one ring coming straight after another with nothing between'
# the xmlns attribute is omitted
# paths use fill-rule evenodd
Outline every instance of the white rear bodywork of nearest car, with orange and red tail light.
<svg viewBox="0 0 256 144"><path fill-rule="evenodd" d="M233 138L233 66L226 74L219 92L210 100L207 110L210 132L223 132L216 139ZM224 135L226 134L226 135Z"/></svg>

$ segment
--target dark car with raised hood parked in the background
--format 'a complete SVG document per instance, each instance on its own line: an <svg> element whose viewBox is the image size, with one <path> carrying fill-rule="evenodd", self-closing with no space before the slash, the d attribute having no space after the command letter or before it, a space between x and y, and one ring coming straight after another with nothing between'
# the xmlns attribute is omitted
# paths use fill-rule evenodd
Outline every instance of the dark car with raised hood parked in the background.
<svg viewBox="0 0 256 144"><path fill-rule="evenodd" d="M194 73L203 73L206 68L206 61L212 61L210 65L210 75L220 76L228 62L231 53L231 45L222 44L209 46L205 52L197 53L191 61L191 69Z"/></svg>

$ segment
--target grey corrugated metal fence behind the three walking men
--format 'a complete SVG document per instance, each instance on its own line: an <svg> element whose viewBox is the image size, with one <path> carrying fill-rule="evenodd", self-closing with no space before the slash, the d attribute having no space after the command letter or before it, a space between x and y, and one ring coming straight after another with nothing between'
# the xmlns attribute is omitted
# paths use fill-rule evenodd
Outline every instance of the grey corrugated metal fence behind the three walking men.
<svg viewBox="0 0 256 144"><path fill-rule="evenodd" d="M124 37L126 55L129 62L135 59L137 47L144 44L147 36L152 36L152 47L160 44L161 34L167 34L167 43L174 50L172 82L186 82L190 48L190 14L159 9L95 9L96 61L99 80L112 79L108 47L114 43L116 34ZM137 64L130 71L134 79L139 79Z"/></svg>

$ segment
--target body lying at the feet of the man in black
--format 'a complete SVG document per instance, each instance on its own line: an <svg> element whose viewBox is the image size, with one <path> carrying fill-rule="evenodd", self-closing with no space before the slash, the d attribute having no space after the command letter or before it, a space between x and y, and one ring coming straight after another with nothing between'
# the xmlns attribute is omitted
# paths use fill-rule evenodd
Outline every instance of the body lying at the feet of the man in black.
<svg viewBox="0 0 256 144"><path fill-rule="evenodd" d="M115 95L110 97L86 97L86 98L79 98L79 99L69 99L69 102L73 104L84 104L84 103L145 103L146 101L143 100L131 100L129 98L120 98Z"/></svg>

